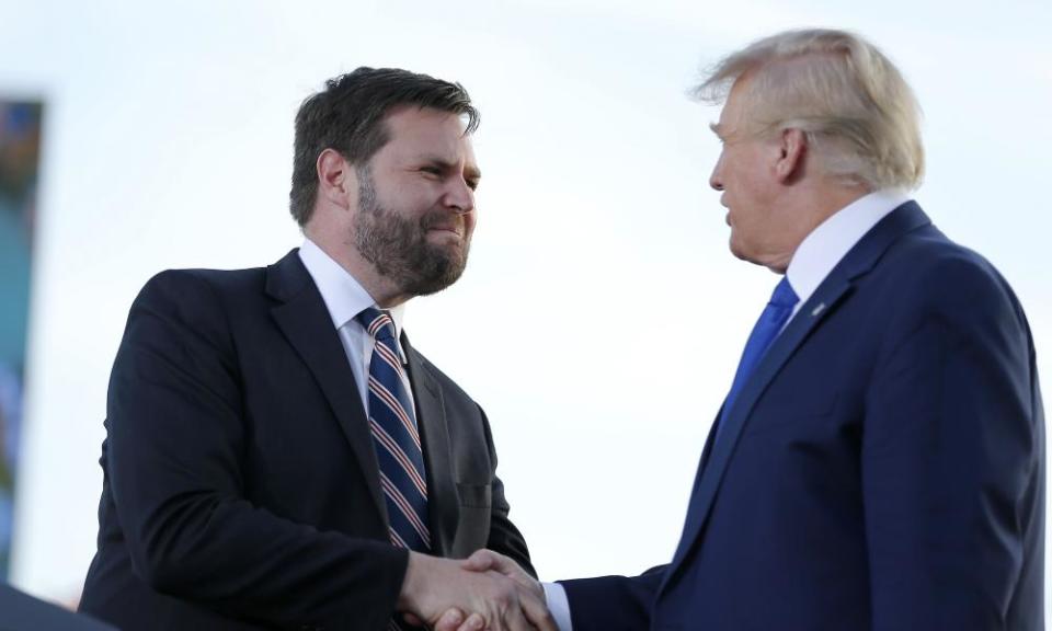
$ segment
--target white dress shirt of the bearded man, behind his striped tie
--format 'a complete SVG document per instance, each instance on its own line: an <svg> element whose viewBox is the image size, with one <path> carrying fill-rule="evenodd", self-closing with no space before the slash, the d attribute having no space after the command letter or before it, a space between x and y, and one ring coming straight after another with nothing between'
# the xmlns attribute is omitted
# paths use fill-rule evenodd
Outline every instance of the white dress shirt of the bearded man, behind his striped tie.
<svg viewBox="0 0 1052 631"><path fill-rule="evenodd" d="M340 335L340 342L343 344L343 351L347 355L347 363L351 364L351 371L354 374L355 385L358 387L358 394L362 397L362 405L368 412L368 383L369 383L369 362L373 359L373 347L376 341L369 335L355 317L362 311L376 306L376 300L369 296L362 285L355 280L346 269L325 254L321 248L315 244L310 239L306 239L299 249L299 259L307 267L310 277L315 279L318 291L321 292L321 299L325 302L329 310L329 317L332 318L332 325ZM395 321L395 341L398 346L399 357L402 359L402 366L405 365L405 351L402 348L400 336L402 334L402 318L405 313L405 305L399 305L387 310ZM413 400L413 389L409 383L409 376L402 370L402 386L409 395L409 404L415 409L416 402Z"/></svg>

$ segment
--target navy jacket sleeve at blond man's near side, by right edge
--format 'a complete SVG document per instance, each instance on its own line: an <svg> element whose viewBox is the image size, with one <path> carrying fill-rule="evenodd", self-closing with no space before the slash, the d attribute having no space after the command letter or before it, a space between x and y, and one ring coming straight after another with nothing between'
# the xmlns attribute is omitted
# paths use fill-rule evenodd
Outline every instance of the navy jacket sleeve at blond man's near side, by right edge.
<svg viewBox="0 0 1052 631"><path fill-rule="evenodd" d="M1029 330L983 262L956 259L923 276L901 301L919 308L889 306L895 333L866 397L872 629L1030 629L1011 619L1040 610L1043 566L1044 431Z"/></svg>

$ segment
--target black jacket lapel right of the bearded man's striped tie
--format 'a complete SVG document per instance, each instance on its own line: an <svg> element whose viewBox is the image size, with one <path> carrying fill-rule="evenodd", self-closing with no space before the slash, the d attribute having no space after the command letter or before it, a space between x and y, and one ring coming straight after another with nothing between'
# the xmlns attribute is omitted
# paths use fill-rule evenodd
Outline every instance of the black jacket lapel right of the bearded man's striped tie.
<svg viewBox="0 0 1052 631"><path fill-rule="evenodd" d="M442 388L424 359L402 332L402 348L409 362L409 381L416 403L416 425L427 468L427 512L436 554L449 553L457 530L457 496L449 462L449 429Z"/></svg>

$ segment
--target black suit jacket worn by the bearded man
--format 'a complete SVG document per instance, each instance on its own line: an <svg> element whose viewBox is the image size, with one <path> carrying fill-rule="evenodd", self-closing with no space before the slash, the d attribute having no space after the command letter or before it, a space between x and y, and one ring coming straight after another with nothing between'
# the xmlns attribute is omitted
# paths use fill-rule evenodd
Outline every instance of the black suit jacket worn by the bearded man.
<svg viewBox="0 0 1052 631"><path fill-rule="evenodd" d="M490 548L531 572L485 415L402 344L434 553ZM408 554L388 543L358 389L296 251L265 269L152 278L106 429L82 610L125 631L385 629Z"/></svg>

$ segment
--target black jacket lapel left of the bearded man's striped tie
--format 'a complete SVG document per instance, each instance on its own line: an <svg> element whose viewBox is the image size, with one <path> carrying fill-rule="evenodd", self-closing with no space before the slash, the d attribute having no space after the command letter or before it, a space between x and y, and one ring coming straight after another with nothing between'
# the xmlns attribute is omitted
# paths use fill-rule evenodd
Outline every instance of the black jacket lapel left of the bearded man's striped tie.
<svg viewBox="0 0 1052 631"><path fill-rule="evenodd" d="M321 294L296 250L267 267L266 292L279 301L271 314L321 387L386 521L379 466L354 374Z"/></svg>

